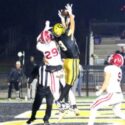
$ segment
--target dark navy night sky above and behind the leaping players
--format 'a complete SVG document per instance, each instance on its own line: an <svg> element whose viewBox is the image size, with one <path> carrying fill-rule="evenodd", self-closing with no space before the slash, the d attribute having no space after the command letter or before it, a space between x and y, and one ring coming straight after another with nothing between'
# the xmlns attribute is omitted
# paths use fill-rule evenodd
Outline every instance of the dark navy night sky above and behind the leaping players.
<svg viewBox="0 0 125 125"><path fill-rule="evenodd" d="M14 57L14 52L20 50L27 55L36 53L35 39L45 20L50 20L51 25L59 22L58 10L66 3L73 3L75 36L83 63L89 22L125 20L120 11L125 0L0 0L0 58Z"/></svg>

